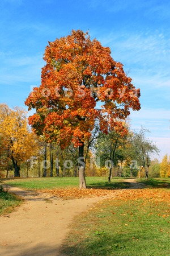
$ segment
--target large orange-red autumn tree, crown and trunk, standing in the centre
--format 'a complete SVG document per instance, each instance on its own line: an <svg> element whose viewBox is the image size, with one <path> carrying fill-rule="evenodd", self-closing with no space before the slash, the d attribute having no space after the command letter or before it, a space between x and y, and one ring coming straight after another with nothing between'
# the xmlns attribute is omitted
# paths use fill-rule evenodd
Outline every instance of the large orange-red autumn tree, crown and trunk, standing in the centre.
<svg viewBox="0 0 170 256"><path fill-rule="evenodd" d="M49 42L41 85L33 89L25 104L36 113L29 124L46 141L62 148L70 143L79 150L79 187L86 188L84 143L91 137L95 121L100 130L126 133L122 119L130 108L139 110L139 89L131 84L123 65L113 60L111 49L91 40L88 32L73 30L71 35ZM101 108L97 107L100 102Z"/></svg>

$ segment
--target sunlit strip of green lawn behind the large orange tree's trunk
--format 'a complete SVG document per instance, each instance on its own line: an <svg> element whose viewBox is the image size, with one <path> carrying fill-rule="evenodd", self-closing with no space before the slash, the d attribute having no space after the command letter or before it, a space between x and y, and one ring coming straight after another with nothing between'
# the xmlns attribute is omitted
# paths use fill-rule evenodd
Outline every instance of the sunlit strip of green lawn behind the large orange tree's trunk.
<svg viewBox="0 0 170 256"><path fill-rule="evenodd" d="M6 179L4 183L14 187L25 189L54 189L69 188L79 186L79 177L41 177L24 179ZM111 183L106 177L86 177L88 188L115 189L129 187L129 183L124 182L124 178L113 178Z"/></svg>

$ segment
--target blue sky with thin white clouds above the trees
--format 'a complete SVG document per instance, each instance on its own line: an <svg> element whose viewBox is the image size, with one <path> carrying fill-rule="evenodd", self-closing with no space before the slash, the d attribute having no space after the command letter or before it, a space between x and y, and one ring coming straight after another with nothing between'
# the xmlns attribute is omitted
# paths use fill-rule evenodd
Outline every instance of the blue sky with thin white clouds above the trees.
<svg viewBox="0 0 170 256"><path fill-rule="evenodd" d="M0 0L0 102L24 107L40 85L48 41L89 30L141 88L131 128L170 155L170 2L167 0ZM27 108L26 108L27 109Z"/></svg>

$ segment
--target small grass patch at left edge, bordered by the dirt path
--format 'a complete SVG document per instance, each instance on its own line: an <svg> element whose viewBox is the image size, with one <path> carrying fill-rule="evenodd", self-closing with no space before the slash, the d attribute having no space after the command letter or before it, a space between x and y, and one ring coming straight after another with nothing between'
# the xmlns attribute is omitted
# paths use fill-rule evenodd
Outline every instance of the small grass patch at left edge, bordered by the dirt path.
<svg viewBox="0 0 170 256"><path fill-rule="evenodd" d="M0 187L0 215L12 212L12 210L20 204L22 204L21 199L11 193L3 191Z"/></svg>

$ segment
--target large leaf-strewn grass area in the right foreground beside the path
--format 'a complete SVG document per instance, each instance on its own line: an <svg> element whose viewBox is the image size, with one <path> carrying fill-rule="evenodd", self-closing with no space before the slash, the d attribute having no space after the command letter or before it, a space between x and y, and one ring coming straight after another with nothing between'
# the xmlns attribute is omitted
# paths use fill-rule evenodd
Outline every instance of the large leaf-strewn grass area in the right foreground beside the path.
<svg viewBox="0 0 170 256"><path fill-rule="evenodd" d="M105 200L76 217L63 245L74 256L170 255L169 191L142 189L148 196ZM127 191L128 192L128 191ZM126 192L126 193L127 193ZM126 197L125 193L125 197Z"/></svg>

